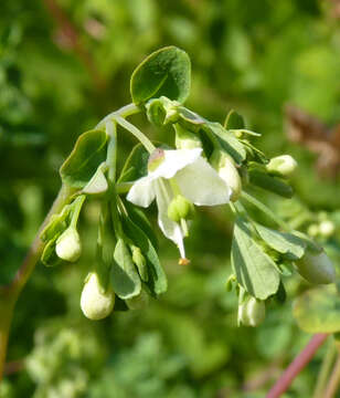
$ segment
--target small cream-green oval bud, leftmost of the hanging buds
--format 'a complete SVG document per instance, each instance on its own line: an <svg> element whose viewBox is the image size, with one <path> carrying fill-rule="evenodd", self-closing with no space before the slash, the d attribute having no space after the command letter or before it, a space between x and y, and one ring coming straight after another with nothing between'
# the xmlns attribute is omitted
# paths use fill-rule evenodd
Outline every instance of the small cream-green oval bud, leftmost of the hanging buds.
<svg viewBox="0 0 340 398"><path fill-rule="evenodd" d="M81 238L77 230L68 227L59 238L55 245L56 255L65 261L75 262L82 254Z"/></svg>

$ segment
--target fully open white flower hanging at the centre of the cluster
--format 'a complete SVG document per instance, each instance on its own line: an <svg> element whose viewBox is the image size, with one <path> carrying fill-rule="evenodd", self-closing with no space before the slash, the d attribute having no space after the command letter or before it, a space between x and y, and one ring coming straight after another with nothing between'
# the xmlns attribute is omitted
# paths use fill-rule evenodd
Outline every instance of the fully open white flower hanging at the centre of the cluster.
<svg viewBox="0 0 340 398"><path fill-rule="evenodd" d="M183 223L171 220L168 207L178 195L198 206L227 203L231 188L202 158L202 148L163 150L156 149L149 159L149 171L131 187L127 199L135 205L148 207L156 198L158 223L163 234L179 248L185 259Z"/></svg>

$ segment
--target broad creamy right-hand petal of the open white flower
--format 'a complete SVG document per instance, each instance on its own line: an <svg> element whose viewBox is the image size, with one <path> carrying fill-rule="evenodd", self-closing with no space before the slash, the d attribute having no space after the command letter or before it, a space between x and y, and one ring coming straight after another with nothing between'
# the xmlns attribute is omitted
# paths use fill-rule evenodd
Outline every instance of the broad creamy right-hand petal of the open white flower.
<svg viewBox="0 0 340 398"><path fill-rule="evenodd" d="M181 193L198 206L215 206L230 201L231 188L209 165L199 157L176 175Z"/></svg>

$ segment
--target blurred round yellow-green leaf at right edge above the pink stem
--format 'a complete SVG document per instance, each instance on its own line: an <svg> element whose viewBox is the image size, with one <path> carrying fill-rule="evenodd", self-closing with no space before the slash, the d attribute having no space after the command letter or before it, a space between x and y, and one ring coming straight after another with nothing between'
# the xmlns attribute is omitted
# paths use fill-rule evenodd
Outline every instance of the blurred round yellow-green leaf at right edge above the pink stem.
<svg viewBox="0 0 340 398"><path fill-rule="evenodd" d="M334 286L311 289L295 300L293 314L305 332L340 332L339 293Z"/></svg>

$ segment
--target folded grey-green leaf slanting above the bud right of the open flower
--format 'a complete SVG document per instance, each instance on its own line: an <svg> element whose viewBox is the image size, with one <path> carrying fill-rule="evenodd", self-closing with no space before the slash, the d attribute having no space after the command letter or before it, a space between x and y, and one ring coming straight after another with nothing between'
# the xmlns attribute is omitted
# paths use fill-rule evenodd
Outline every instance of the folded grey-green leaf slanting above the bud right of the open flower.
<svg viewBox="0 0 340 398"><path fill-rule="evenodd" d="M232 158L237 163L242 164L242 161L246 158L246 150L242 143L237 138L235 138L231 133L225 130L220 123L208 122L204 129L213 133L219 137L220 143L222 144L223 149L232 156Z"/></svg>

